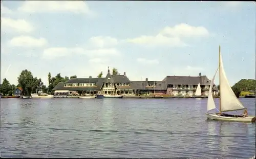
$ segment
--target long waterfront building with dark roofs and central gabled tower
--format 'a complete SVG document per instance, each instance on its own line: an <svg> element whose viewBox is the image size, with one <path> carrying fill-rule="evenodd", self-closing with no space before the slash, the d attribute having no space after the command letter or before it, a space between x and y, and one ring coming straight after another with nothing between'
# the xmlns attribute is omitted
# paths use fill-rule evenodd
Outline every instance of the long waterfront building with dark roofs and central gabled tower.
<svg viewBox="0 0 256 159"><path fill-rule="evenodd" d="M130 81L123 75L108 74L104 78L73 78L59 82L53 90L70 90L79 94L142 95L161 93L167 95L194 95L198 84L202 95L208 95L210 80L206 76L166 76L162 81ZM213 94L218 93L214 85Z"/></svg>

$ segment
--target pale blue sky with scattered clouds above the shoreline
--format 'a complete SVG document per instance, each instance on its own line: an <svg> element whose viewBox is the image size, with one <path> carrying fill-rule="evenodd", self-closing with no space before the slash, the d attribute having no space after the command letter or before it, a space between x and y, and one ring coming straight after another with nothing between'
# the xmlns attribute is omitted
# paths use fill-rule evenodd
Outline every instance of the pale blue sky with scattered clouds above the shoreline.
<svg viewBox="0 0 256 159"><path fill-rule="evenodd" d="M229 84L255 79L253 2L1 1L1 83L29 70L130 80L211 79L219 45ZM218 77L215 83L219 83Z"/></svg>

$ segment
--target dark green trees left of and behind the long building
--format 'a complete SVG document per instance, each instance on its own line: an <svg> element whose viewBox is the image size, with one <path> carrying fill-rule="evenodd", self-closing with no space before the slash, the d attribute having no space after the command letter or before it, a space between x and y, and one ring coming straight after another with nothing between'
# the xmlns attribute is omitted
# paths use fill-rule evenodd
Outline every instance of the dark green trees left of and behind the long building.
<svg viewBox="0 0 256 159"><path fill-rule="evenodd" d="M112 69L113 75L118 75L117 69ZM102 71L97 76L98 78L103 77ZM2 84L0 84L0 93L3 95L12 95L13 90L16 87L22 88L22 94L23 95L31 95L32 92L37 93L38 90L42 90L44 93L51 93L52 89L59 83L59 82L66 82L69 79L77 78L76 75L73 75L71 77L65 76L62 77L60 73L58 73L56 76L52 77L51 73L48 73L48 87L44 84L44 82L41 81L41 78L33 77L33 74L31 71L23 70L20 75L17 77L18 84L10 84L10 82L4 78ZM89 76L89 78L92 78L92 76Z"/></svg>

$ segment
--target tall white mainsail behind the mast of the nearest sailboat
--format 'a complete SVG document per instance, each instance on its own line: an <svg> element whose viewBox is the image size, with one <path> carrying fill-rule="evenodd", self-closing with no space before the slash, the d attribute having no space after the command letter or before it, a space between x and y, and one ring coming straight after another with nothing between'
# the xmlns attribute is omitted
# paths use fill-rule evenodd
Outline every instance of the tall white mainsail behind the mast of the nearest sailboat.
<svg viewBox="0 0 256 159"><path fill-rule="evenodd" d="M231 89L222 63L220 55L220 98L221 98L221 111L232 111L246 109L239 99L234 95Z"/></svg>

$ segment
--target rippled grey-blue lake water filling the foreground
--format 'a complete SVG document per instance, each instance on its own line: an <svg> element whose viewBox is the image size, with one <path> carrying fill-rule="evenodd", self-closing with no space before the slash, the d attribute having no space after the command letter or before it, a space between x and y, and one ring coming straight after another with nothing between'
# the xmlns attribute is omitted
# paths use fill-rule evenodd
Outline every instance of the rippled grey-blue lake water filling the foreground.
<svg viewBox="0 0 256 159"><path fill-rule="evenodd" d="M255 99L241 101L255 115ZM1 99L1 156L252 157L255 123L206 120L206 102Z"/></svg>

